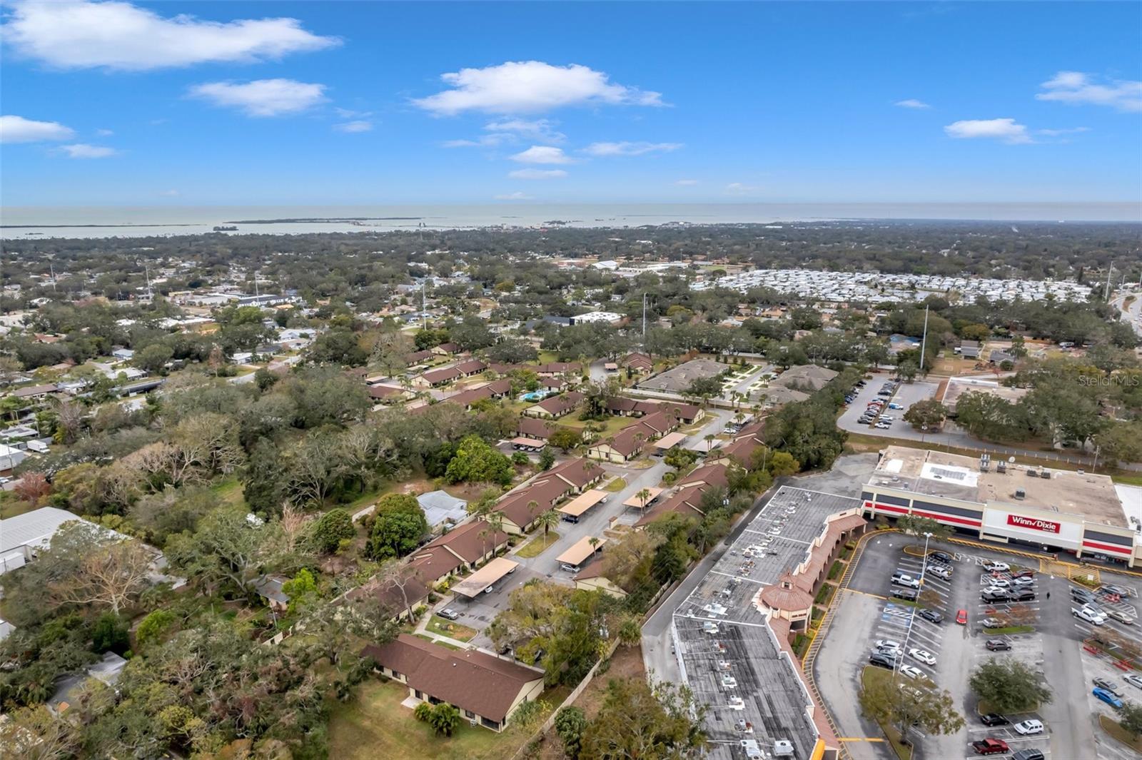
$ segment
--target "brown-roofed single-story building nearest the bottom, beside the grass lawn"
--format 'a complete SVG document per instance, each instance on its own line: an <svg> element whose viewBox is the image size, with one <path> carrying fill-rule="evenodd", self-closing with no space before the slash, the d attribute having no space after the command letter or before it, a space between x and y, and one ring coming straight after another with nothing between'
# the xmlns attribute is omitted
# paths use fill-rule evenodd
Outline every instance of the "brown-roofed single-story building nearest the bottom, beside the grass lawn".
<svg viewBox="0 0 1142 760"><path fill-rule="evenodd" d="M361 654L408 686L415 700L447 702L493 731L504 730L516 708L544 690L541 670L480 649L449 649L408 633L380 646L370 644Z"/></svg>

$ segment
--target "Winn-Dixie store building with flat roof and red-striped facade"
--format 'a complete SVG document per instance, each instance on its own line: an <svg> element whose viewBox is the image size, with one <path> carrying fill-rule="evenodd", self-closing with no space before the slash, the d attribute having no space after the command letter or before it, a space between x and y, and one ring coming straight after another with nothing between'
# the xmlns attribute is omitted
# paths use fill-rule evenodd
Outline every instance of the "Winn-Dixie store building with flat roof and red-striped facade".
<svg viewBox="0 0 1142 760"><path fill-rule="evenodd" d="M870 517L927 517L987 541L1142 564L1142 515L1104 475L890 446L861 500Z"/></svg>

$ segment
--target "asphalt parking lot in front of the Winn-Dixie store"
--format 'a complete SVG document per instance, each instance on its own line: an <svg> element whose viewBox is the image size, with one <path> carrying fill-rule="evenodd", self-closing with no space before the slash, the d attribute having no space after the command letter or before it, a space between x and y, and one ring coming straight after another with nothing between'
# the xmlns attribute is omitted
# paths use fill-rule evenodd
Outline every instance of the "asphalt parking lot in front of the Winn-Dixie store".
<svg viewBox="0 0 1142 760"><path fill-rule="evenodd" d="M962 731L949 736L919 736L918 750L924 758L978 758L971 750L971 742L986 737L1006 742L1012 751L1038 749L1048 760L1072 760L1100 758L1125 760L1136 757L1127 747L1107 736L1097 726L1097 714L1112 714L1115 710L1096 700L1091 690L1092 679L1099 674L1119 685L1123 698L1142 702L1142 688L1123 680L1123 672L1111 660L1099 657L1083 648L1096 629L1092 623L1071 615L1071 601L1063 577L1040 574L1038 561L1013 557L1005 552L987 549L966 549L955 545L932 544L930 550L951 555L951 579L946 580L925 572L922 599L910 605L892 597L892 575L902 572L919 577L924 563L919 556L904 552L906 545L919 549L923 541L892 533L869 540L854 572L849 593L844 593L834 609L834 621L827 633L820 654L814 661L814 676L830 713L846 736L879 736L879 729L869 725L859 709L852 705L852 696L859 690L860 672L868 663L877 640L892 640L901 645L907 664L918 671L912 679L901 676L901 682L924 686L926 682L946 689L965 717ZM981 592L995 583L1013 585L1011 571L992 575L983 567L984 560L1006 561L1012 571L1024 563L1036 571L1034 580L1026 588L1034 590L1035 599L1021 603L989 603L981 599ZM930 567L934 564L930 563ZM1121 609L1128 618L1137 618L1137 593L1142 582L1127 576L1110 576L1110 582L1125 587L1126 598L1119 601L1103 601L1104 609ZM1107 580L1104 579L1104 581ZM920 608L941 613L942 621L933 624L919 616ZM957 625L958 611L965 611L966 625ZM983 626L989 617L1029 617L1031 631L992 632ZM1099 630L1115 630L1123 636L1137 639L1139 624L1123 624L1109 618ZM1000 639L1011 649L990 652L988 639ZM909 655L910 649L930 653L935 662L928 664ZM1040 706L1039 712L1007 715L1010 723L1036 718L1046 729L1040 735L1022 736L1011 725L988 727L979 717L974 695L968 689L971 672L988 658L1016 657L1032 670L1043 673L1054 693L1051 703ZM899 666L899 665L898 665ZM1081 696L1080 696L1081 695ZM884 757L883 745L872 743L850 743L850 753L855 760Z"/></svg>

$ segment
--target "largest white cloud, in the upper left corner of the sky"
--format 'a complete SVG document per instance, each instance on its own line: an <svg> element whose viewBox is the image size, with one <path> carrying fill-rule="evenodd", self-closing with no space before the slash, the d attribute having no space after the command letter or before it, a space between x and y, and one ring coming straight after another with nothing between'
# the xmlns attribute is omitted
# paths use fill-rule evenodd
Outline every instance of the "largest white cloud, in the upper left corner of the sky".
<svg viewBox="0 0 1142 760"><path fill-rule="evenodd" d="M129 2L17 2L3 38L17 54L51 66L121 71L279 59L340 43L296 18L220 23L163 17Z"/></svg>

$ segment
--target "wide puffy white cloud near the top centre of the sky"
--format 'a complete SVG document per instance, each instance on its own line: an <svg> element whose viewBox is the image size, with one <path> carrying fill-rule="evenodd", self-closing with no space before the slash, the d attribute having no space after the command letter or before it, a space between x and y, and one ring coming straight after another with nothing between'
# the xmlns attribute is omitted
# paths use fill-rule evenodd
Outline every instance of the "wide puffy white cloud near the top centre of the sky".
<svg viewBox="0 0 1142 760"><path fill-rule="evenodd" d="M441 74L451 89L412 100L436 115L465 111L517 114L581 105L662 105L659 92L616 84L605 73L571 64L517 60Z"/></svg>

